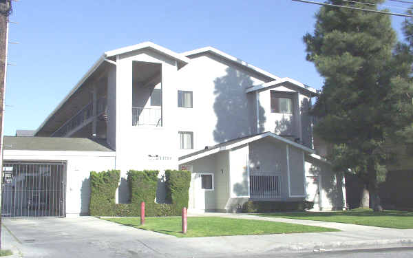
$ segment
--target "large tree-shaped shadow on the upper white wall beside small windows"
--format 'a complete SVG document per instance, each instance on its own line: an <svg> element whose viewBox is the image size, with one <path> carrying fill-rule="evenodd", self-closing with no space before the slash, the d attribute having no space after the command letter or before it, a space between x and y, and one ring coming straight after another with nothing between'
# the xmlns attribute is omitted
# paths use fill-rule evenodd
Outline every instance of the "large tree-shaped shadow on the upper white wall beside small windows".
<svg viewBox="0 0 413 258"><path fill-rule="evenodd" d="M213 109L217 116L217 124L213 131L215 142L226 142L255 133L255 95L245 92L247 87L253 86L250 76L228 67L226 75L215 78L214 84ZM263 130L265 121L264 109L260 106L258 132Z"/></svg>

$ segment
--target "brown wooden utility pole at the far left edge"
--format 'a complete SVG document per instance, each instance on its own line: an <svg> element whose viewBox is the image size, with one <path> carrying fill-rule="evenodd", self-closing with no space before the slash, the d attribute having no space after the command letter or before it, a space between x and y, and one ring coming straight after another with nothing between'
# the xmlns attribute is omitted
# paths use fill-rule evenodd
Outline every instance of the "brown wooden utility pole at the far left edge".
<svg viewBox="0 0 413 258"><path fill-rule="evenodd" d="M4 95L6 93L7 50L8 50L8 17L12 12L11 0L0 0L0 235L1 235L1 186L3 184L3 122ZM0 239L1 249L1 239Z"/></svg>

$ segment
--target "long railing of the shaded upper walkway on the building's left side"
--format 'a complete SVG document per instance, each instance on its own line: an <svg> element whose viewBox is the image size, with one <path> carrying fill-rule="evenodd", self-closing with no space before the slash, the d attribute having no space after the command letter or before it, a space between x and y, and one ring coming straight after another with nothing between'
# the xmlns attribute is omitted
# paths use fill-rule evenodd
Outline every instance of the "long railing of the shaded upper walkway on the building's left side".
<svg viewBox="0 0 413 258"><path fill-rule="evenodd" d="M99 98L97 100L97 107L96 107L96 116L99 116L106 109L106 98ZM63 137L67 133L70 133L76 127L83 125L83 123L88 120L89 118L93 117L93 103L90 102L85 107L83 107L80 111L78 111L70 120L67 120L59 129L57 129L54 133L52 133L53 137Z"/></svg>

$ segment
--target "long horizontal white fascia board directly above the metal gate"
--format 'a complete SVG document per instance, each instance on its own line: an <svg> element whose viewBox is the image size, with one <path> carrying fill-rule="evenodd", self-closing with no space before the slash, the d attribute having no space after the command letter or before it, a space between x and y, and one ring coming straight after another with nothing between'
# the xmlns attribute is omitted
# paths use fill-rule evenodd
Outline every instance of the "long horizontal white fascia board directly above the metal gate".
<svg viewBox="0 0 413 258"><path fill-rule="evenodd" d="M4 159L17 156L47 156L47 157L116 157L115 151L28 151L4 150Z"/></svg>

